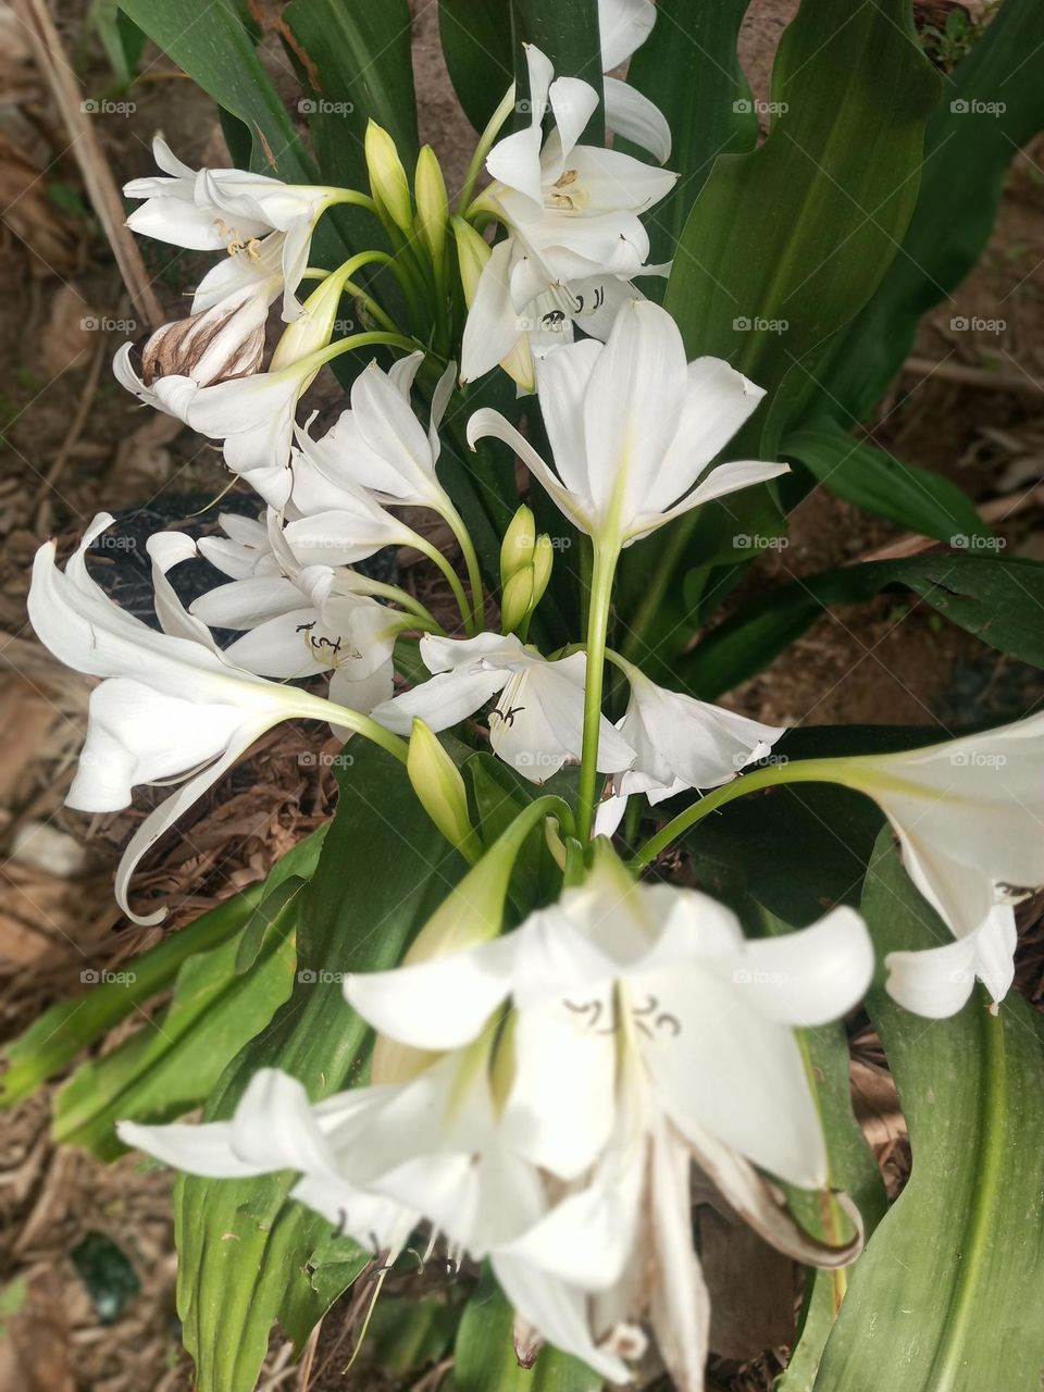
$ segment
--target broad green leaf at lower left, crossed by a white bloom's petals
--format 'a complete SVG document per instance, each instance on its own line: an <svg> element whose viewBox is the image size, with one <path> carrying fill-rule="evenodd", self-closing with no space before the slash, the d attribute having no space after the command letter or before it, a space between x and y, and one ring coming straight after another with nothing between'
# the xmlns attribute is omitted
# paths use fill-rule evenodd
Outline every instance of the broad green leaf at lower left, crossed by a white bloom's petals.
<svg viewBox="0 0 1044 1392"><path fill-rule="evenodd" d="M319 867L296 901L294 991L226 1069L207 1118L228 1116L259 1068L292 1073L313 1098L359 1082L370 1031L345 1004L342 977L394 965L464 870L402 766L361 739L352 753ZM252 1392L273 1321L299 1346L361 1270L354 1243L287 1201L292 1180L178 1179L178 1313L199 1392Z"/></svg>

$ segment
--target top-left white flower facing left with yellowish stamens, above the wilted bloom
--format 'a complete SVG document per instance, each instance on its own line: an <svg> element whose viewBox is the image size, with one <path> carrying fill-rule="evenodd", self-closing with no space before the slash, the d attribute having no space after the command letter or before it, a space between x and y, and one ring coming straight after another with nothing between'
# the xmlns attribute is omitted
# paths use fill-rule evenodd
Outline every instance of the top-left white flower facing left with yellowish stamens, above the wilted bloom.
<svg viewBox="0 0 1044 1392"><path fill-rule="evenodd" d="M246 251L278 232L283 317L296 319L295 291L308 267L315 224L342 191L313 184L284 184L245 170L192 170L182 164L161 136L152 142L163 175L131 180L127 198L145 202L127 219L135 232L195 251Z"/></svg>

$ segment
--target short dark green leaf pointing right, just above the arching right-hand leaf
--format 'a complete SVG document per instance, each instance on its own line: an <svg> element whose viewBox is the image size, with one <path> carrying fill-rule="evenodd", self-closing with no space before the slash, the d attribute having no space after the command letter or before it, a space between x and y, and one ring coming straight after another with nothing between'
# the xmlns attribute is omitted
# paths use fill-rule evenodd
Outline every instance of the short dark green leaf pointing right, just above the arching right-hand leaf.
<svg viewBox="0 0 1044 1392"><path fill-rule="evenodd" d="M788 434L780 452L803 464L837 497L922 536L955 546L991 535L974 504L949 479L901 464L866 440L853 440L832 420Z"/></svg>

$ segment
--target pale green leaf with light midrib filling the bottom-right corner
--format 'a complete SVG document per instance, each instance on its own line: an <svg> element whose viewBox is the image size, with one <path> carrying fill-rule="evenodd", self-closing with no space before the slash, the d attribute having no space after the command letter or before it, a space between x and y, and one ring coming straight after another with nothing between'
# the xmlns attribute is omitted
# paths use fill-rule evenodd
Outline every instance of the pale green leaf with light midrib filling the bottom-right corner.
<svg viewBox="0 0 1044 1392"><path fill-rule="evenodd" d="M949 933L883 832L863 913L881 952ZM910 1132L913 1172L860 1257L817 1392L1038 1388L1044 1324L1044 1034L979 987L949 1020L867 997Z"/></svg>

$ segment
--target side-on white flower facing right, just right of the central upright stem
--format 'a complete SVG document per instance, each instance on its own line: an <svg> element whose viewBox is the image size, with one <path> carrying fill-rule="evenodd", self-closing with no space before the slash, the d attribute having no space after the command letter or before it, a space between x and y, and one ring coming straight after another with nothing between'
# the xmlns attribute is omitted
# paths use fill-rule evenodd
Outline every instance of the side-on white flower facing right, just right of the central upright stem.
<svg viewBox="0 0 1044 1392"><path fill-rule="evenodd" d="M785 729L657 686L632 663L612 661L631 683L618 722L635 749L635 761L612 780L612 795L599 806L597 830L611 835L632 793L656 805L689 788L718 788L770 752Z"/></svg>

